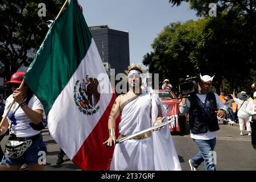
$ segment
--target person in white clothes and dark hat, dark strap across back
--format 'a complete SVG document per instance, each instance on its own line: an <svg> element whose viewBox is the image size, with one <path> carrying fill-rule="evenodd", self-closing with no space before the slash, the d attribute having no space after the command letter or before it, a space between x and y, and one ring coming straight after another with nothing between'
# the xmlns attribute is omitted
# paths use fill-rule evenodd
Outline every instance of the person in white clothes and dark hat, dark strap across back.
<svg viewBox="0 0 256 182"><path fill-rule="evenodd" d="M237 98L234 95L233 92L233 99L235 102L237 102L238 106L238 112L237 117L239 121L239 127L240 127L240 136L243 136L243 121L246 122L246 130L248 131L249 135L251 134L251 126L250 126L250 115L246 112L246 107L249 103L247 100L250 96L246 94L246 92L242 91L241 93L237 93Z"/></svg>

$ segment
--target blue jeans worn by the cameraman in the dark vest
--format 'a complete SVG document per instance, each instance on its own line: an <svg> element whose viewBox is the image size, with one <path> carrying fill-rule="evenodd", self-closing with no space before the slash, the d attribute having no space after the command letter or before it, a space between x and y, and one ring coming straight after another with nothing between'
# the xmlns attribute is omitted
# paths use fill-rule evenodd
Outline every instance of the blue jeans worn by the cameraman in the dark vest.
<svg viewBox="0 0 256 182"><path fill-rule="evenodd" d="M202 162L204 162L205 170L216 171L213 160L213 150L216 144L216 138L210 140L193 140L196 142L200 151L191 159L192 166L197 168Z"/></svg>

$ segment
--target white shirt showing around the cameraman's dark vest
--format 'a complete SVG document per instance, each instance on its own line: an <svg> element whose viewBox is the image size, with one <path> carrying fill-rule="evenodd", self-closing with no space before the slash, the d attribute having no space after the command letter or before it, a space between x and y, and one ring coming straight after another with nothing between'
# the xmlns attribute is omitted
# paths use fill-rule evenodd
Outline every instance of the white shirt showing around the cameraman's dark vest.
<svg viewBox="0 0 256 182"><path fill-rule="evenodd" d="M214 93L216 97L216 104L217 109L224 109L226 111L226 106L221 102L220 98L216 93ZM197 93L196 96L204 103L205 99L207 97L207 94L199 94ZM181 105L181 102L180 102ZM182 105L181 105L182 106ZM189 100L187 99L187 106L188 108L191 106ZM199 140L210 140L217 137L217 131L207 131L207 133L201 133L201 134L190 134L190 137L193 139L199 139Z"/></svg>

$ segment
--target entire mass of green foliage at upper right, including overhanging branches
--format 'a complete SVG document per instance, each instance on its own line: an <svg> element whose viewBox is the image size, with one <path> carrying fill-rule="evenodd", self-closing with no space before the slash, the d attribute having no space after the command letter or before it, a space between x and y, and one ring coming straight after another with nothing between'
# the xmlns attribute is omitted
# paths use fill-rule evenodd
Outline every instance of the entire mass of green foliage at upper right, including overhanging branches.
<svg viewBox="0 0 256 182"><path fill-rule="evenodd" d="M143 64L148 65L149 71L160 73L162 80L170 78L176 92L178 79L195 73L215 75L213 89L217 93L234 88L238 92L249 91L249 86L256 82L255 3L250 6L249 1L238 0L169 2L172 6L189 2L191 9L204 18L164 27L152 43L154 51L144 56ZM216 17L209 17L209 3L216 3Z"/></svg>

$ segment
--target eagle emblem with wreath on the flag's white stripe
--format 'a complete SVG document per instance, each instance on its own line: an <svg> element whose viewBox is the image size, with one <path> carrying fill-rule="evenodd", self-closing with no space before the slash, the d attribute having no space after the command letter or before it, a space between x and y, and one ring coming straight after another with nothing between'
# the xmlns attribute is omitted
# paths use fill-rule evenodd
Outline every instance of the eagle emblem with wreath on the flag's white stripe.
<svg viewBox="0 0 256 182"><path fill-rule="evenodd" d="M77 80L74 86L74 99L79 111L85 115L93 115L97 113L100 106L101 94L98 92L98 80L86 75L86 79Z"/></svg>

